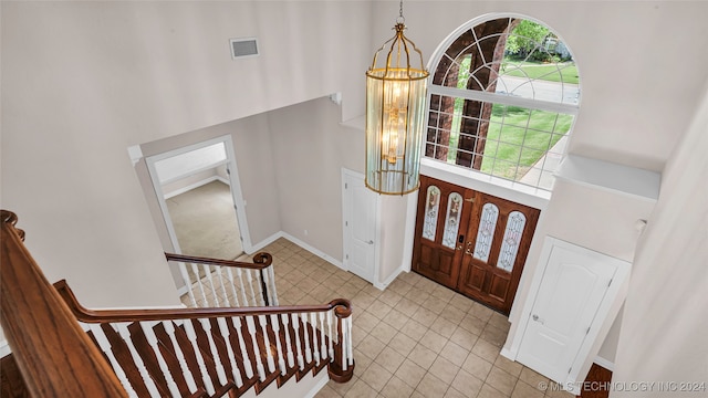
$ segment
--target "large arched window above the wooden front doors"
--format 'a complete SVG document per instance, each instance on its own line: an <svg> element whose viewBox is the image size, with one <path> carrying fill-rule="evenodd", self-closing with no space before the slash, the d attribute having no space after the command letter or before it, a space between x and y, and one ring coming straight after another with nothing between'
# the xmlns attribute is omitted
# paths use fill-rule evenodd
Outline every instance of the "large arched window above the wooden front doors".
<svg viewBox="0 0 708 398"><path fill-rule="evenodd" d="M460 27L430 63L425 156L551 190L580 103L570 49L522 15Z"/></svg>

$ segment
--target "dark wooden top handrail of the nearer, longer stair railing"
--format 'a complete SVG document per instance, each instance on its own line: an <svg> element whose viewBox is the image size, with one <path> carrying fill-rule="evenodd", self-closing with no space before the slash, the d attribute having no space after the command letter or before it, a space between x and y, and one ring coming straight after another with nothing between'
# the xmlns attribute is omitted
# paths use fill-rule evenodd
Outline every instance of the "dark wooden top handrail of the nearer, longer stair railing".
<svg viewBox="0 0 708 398"><path fill-rule="evenodd" d="M66 281L62 280L56 282L54 287L62 298L64 298L74 316L85 323L197 320L207 317L312 313L332 308L335 308L335 314L340 318L347 317L352 314L352 304L346 298L335 298L327 304L321 305L170 310L88 310L79 303L71 287L66 284Z"/></svg>

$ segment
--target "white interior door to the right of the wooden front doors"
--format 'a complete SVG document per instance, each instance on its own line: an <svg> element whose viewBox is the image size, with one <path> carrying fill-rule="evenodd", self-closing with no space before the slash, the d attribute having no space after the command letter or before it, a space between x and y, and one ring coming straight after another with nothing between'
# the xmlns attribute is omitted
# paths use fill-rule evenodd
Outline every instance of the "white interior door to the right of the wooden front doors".
<svg viewBox="0 0 708 398"><path fill-rule="evenodd" d="M614 298L607 292L617 264L589 252L551 248L519 347L520 363L556 381L566 379L591 327L604 321L596 320L603 302Z"/></svg>

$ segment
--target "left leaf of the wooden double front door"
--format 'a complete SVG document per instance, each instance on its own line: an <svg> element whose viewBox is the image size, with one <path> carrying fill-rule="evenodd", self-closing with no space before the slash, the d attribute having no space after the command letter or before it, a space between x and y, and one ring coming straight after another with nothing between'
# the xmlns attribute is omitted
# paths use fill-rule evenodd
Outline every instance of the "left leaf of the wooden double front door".
<svg viewBox="0 0 708 398"><path fill-rule="evenodd" d="M420 176L413 270L457 287L473 191Z"/></svg>

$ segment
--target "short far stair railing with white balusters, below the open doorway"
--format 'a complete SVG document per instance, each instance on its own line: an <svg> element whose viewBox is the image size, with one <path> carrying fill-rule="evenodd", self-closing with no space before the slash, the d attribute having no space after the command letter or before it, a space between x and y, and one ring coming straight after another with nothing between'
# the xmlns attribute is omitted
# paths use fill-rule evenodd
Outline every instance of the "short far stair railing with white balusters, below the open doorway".
<svg viewBox="0 0 708 398"><path fill-rule="evenodd" d="M257 253L253 262L165 253L176 262L194 307L278 305L273 258Z"/></svg>

